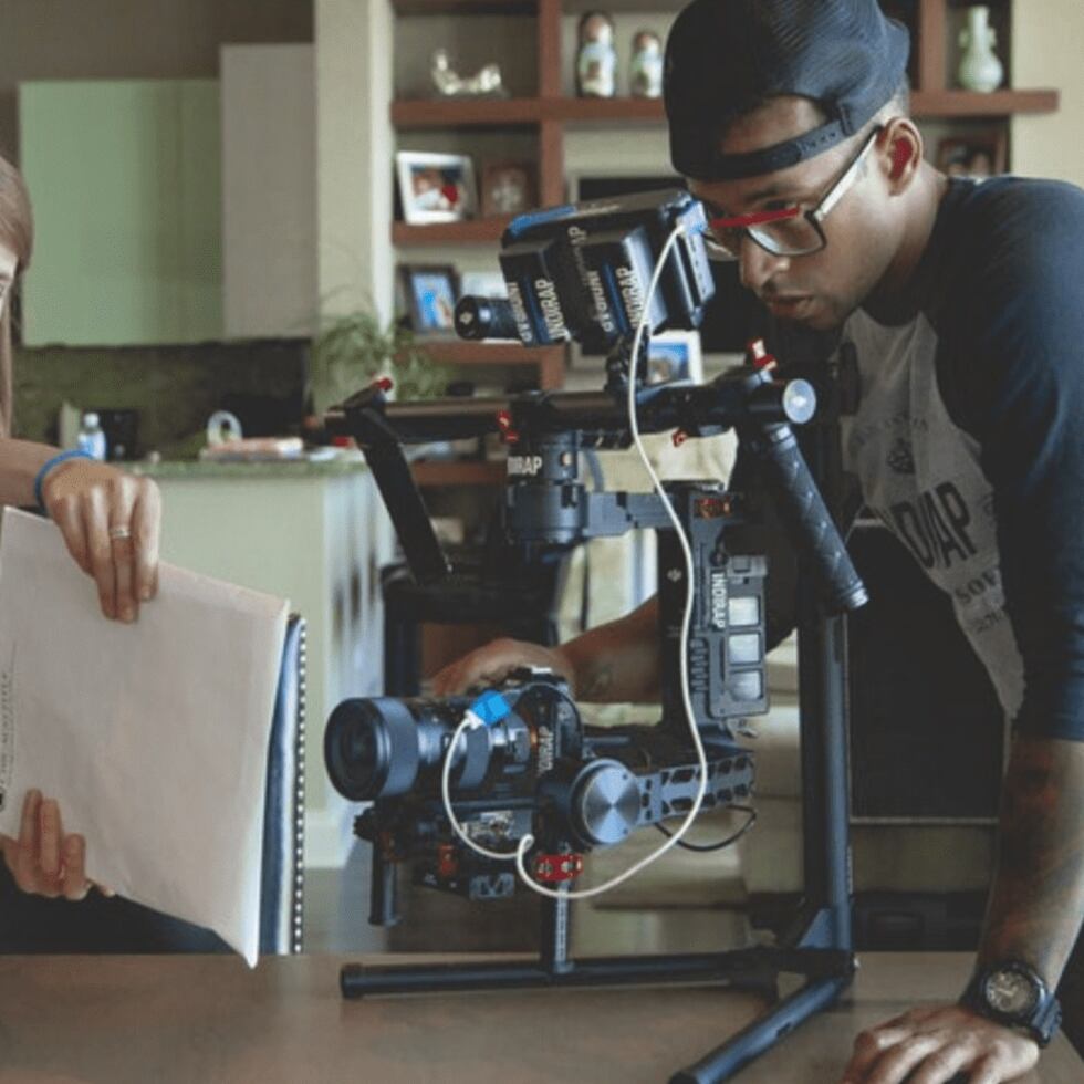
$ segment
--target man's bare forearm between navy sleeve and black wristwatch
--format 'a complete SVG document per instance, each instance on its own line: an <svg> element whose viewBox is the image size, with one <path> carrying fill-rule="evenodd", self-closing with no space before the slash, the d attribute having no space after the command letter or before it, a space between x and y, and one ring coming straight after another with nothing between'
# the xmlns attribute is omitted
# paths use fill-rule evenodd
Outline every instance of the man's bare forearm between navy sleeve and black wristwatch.
<svg viewBox="0 0 1084 1084"><path fill-rule="evenodd" d="M1019 738L1001 800L980 962L1018 959L1053 988L1084 915L1084 742Z"/></svg>

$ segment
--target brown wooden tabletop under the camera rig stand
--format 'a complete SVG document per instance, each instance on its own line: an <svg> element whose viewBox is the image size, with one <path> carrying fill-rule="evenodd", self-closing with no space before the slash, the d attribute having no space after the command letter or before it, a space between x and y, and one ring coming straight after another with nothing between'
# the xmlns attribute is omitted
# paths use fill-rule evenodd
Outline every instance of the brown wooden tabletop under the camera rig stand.
<svg viewBox="0 0 1084 1084"><path fill-rule="evenodd" d="M659 1084L757 1011L748 994L689 988L344 1002L342 962L270 958L249 971L225 956L2 958L0 1084ZM737 1084L835 1084L856 1031L955 997L970 957L862 962L835 1008ZM1059 1035L1023 1080L1081 1084L1084 1063Z"/></svg>

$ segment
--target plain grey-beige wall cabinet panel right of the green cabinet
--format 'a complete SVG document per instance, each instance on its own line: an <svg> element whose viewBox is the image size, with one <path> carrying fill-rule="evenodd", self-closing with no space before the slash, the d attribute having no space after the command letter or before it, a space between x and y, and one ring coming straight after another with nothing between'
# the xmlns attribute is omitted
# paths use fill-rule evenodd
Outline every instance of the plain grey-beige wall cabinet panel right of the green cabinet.
<svg viewBox="0 0 1084 1084"><path fill-rule="evenodd" d="M225 45L222 283L227 338L308 337L316 289L312 45Z"/></svg>

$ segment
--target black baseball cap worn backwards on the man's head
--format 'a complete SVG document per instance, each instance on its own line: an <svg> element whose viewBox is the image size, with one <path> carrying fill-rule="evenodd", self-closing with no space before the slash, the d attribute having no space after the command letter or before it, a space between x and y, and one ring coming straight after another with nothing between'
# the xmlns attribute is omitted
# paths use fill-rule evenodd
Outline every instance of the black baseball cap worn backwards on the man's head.
<svg viewBox="0 0 1084 1084"><path fill-rule="evenodd" d="M757 177L862 131L903 85L910 39L877 0L694 0L666 42L674 168L697 180ZM828 119L748 154L719 152L727 125L765 98L813 98Z"/></svg>

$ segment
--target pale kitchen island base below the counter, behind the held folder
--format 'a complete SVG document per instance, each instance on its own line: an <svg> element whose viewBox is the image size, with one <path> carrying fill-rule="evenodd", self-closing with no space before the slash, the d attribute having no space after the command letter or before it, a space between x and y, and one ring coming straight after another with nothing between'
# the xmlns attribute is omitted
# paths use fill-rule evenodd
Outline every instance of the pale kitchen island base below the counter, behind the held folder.
<svg viewBox="0 0 1084 1084"><path fill-rule="evenodd" d="M290 600L309 624L305 861L337 866L352 807L327 781L324 723L340 700L383 691L381 565L393 534L361 465L161 463L161 555Z"/></svg>

